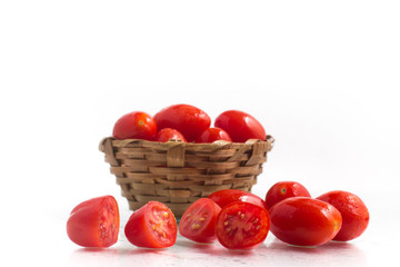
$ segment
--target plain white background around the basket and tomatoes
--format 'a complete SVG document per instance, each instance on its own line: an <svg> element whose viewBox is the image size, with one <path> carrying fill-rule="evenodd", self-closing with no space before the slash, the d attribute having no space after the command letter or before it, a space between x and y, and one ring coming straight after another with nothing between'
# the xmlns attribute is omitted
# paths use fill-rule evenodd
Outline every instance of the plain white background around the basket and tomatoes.
<svg viewBox="0 0 400 267"><path fill-rule="evenodd" d="M101 195L129 215L98 145L120 116L180 102L211 118L247 111L277 139L253 188L259 196L279 180L300 181L314 197L343 189L364 200L371 222L339 249L292 250L269 235L241 256L180 240L147 255L147 265L394 258L399 13L400 3L386 0L1 1L1 260L141 263L146 251L123 236L106 251L80 249L64 222L74 205Z"/></svg>

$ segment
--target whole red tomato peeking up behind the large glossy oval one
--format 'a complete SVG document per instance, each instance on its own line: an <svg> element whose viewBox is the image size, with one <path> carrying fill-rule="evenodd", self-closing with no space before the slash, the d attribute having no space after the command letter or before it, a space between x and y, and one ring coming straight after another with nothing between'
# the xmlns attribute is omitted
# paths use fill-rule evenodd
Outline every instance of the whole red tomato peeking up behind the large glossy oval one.
<svg viewBox="0 0 400 267"><path fill-rule="evenodd" d="M277 202L290 197L311 197L310 192L297 181L279 181L266 195L266 204L270 209Z"/></svg>

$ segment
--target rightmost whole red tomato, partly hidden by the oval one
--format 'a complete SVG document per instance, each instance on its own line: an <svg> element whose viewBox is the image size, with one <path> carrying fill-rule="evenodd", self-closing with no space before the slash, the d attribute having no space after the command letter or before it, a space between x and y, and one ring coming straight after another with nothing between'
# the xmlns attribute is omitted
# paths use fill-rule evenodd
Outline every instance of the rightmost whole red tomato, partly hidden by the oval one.
<svg viewBox="0 0 400 267"><path fill-rule="evenodd" d="M364 202L354 194L336 190L323 194L317 199L334 206L342 216L342 227L333 240L349 241L361 236L367 229L369 211Z"/></svg>

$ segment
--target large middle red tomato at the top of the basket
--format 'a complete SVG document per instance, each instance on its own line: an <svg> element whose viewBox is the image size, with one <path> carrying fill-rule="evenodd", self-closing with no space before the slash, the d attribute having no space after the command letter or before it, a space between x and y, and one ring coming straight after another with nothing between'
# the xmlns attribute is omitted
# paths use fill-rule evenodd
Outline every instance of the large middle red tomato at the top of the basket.
<svg viewBox="0 0 400 267"><path fill-rule="evenodd" d="M194 141L211 123L210 117L204 111L184 103L162 109L154 115L154 120L159 129L177 129L190 142Z"/></svg>

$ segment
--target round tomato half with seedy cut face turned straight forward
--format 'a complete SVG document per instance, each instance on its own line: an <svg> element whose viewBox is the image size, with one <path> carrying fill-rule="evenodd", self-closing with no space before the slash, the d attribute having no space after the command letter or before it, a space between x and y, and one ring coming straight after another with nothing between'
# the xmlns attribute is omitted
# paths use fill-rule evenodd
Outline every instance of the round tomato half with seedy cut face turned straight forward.
<svg viewBox="0 0 400 267"><path fill-rule="evenodd" d="M251 249L266 240L270 228L267 209L249 202L232 202L219 212L216 234L222 246Z"/></svg>

